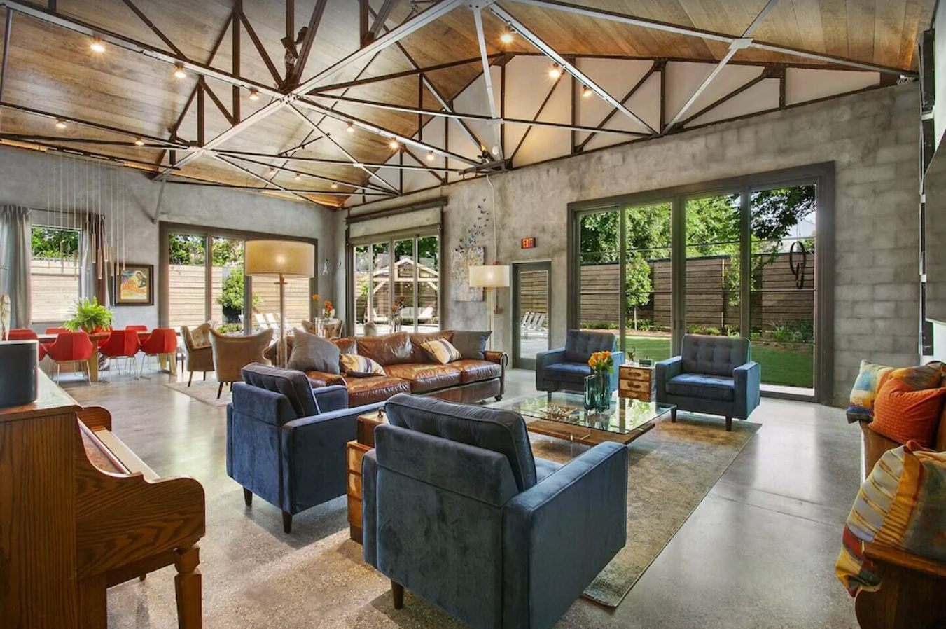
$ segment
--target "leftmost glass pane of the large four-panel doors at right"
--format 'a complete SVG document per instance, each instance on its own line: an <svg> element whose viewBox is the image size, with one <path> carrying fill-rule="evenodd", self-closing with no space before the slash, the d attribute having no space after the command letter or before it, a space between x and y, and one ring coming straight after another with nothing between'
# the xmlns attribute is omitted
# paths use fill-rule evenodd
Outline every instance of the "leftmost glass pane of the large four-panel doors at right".
<svg viewBox="0 0 946 629"><path fill-rule="evenodd" d="M583 328L618 329L621 267L618 262L620 215L587 214L579 225L579 313Z"/></svg>

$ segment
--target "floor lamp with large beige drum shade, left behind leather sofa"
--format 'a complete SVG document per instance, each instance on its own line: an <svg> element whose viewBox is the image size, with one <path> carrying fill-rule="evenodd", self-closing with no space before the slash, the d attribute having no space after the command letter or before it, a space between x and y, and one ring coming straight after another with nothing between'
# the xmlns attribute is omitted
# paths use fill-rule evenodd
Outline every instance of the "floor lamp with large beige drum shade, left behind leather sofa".
<svg viewBox="0 0 946 629"><path fill-rule="evenodd" d="M279 341L276 366L286 367L286 277L315 276L315 247L299 240L247 240L246 274L278 277Z"/></svg>

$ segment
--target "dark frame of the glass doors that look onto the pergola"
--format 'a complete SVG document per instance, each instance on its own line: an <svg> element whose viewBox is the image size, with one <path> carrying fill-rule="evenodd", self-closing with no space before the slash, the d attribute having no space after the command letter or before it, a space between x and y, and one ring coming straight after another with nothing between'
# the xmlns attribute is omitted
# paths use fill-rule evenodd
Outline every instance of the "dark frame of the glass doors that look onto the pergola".
<svg viewBox="0 0 946 629"><path fill-rule="evenodd" d="M355 280L356 273L356 261L355 261L355 250L357 247L367 246L368 249L368 277L369 277L369 288L368 288L368 302L365 305L365 314L367 316L367 321L373 322L375 320L374 316L374 294L371 289L372 281L375 273L375 256L373 253L373 245L376 244L387 244L388 245L388 282L391 285L390 295L392 304L394 303L394 281L397 277L397 271L394 269L394 243L402 242L404 240L412 240L412 260L413 260L413 277L412 277L412 286L413 286L413 324L412 328L408 331L418 332L418 327L420 325L419 311L420 306L418 301L420 299L420 266L417 262L418 254L418 240L421 238L428 238L430 236L436 236L438 240L437 245L437 329L444 329L444 236L439 225L431 226L422 229L412 229L412 230L403 230L399 232L389 232L386 234L376 234L373 236L359 236L357 238L347 238L345 243L345 303L347 311L351 313L347 317L345 322L345 330L348 336L356 336L355 332L358 326L358 321L356 321L358 310L357 301L358 296L355 294L356 289L358 288ZM389 319L389 334L390 330L390 314L388 315ZM406 329L402 326L402 330Z"/></svg>

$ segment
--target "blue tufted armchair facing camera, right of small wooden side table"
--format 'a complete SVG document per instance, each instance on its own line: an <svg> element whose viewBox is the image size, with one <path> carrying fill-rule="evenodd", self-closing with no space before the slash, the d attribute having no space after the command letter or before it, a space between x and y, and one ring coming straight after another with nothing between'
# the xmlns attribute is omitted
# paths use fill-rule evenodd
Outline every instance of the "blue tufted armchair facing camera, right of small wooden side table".
<svg viewBox="0 0 946 629"><path fill-rule="evenodd" d="M681 355L657 363L657 402L681 411L748 419L759 406L762 368L749 359L749 340L687 334ZM676 411L672 415L676 421Z"/></svg>

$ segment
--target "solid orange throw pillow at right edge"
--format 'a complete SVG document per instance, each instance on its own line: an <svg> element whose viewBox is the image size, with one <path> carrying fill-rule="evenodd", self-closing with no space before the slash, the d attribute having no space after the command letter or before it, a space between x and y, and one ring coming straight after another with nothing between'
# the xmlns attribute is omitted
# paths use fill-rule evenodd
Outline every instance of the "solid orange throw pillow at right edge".
<svg viewBox="0 0 946 629"><path fill-rule="evenodd" d="M897 370L900 371L904 370ZM874 421L869 428L898 444L913 440L921 446L932 446L946 389L915 391L910 383L896 376L897 372L886 378L877 393Z"/></svg>

